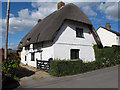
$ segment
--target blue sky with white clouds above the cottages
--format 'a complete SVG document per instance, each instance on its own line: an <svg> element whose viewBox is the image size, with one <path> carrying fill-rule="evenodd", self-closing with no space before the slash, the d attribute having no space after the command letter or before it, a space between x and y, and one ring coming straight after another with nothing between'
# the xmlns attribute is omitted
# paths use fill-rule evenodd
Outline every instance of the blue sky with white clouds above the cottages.
<svg viewBox="0 0 120 90"><path fill-rule="evenodd" d="M68 0L69 1L69 0ZM9 18L8 48L17 49L21 39L37 24L38 19L57 10L58 2L11 2ZM70 2L65 2L68 4ZM91 20L97 30L106 23L111 24L111 29L118 30L118 2L72 2L77 5ZM4 48L7 3L0 3L0 48ZM2 24L2 25L1 25Z"/></svg>

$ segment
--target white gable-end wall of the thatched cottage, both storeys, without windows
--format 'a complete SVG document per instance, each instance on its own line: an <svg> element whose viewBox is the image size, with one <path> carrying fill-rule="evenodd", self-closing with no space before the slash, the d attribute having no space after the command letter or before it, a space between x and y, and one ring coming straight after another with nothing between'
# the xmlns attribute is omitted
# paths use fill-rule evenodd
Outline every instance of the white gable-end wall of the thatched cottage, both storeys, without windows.
<svg viewBox="0 0 120 90"><path fill-rule="evenodd" d="M84 38L76 38L76 27L83 28ZM54 58L70 59L70 50L79 49L79 58L84 62L94 61L95 40L87 26L66 22L61 27L54 42Z"/></svg>

